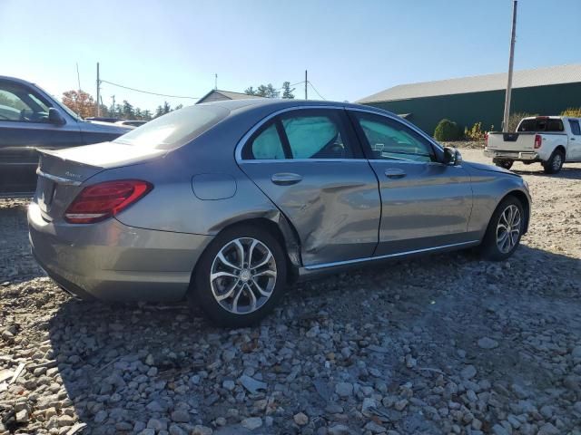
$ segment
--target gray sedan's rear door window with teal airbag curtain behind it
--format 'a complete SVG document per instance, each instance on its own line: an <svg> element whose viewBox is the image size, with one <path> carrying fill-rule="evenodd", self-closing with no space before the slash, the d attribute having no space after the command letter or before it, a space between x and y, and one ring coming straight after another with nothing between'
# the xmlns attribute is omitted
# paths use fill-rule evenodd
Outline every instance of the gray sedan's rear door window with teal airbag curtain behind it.
<svg viewBox="0 0 581 435"><path fill-rule="evenodd" d="M341 135L340 119L333 113L308 111L281 119L293 159L350 159L353 153Z"/></svg>

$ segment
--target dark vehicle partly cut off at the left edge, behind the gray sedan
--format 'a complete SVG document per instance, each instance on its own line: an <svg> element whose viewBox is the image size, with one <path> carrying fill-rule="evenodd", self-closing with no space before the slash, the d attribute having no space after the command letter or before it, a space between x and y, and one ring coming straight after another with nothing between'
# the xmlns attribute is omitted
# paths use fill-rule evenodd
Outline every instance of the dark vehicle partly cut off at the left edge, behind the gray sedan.
<svg viewBox="0 0 581 435"><path fill-rule="evenodd" d="M37 149L113 140L129 131L84 121L33 83L0 76L0 196L32 196Z"/></svg>

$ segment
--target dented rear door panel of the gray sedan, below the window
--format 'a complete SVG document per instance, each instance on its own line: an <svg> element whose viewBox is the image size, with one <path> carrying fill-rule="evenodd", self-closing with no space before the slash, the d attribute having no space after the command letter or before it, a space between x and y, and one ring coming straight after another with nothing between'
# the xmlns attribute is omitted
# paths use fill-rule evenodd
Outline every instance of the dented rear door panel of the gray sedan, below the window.
<svg viewBox="0 0 581 435"><path fill-rule="evenodd" d="M367 160L241 162L241 169L297 229L304 266L364 258L378 243L378 180ZM281 186L274 174L297 174Z"/></svg>

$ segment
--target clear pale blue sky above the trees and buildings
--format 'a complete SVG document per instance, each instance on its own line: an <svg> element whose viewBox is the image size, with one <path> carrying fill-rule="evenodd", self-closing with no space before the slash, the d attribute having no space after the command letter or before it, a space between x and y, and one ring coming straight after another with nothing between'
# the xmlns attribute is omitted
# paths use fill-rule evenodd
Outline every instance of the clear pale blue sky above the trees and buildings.
<svg viewBox="0 0 581 435"><path fill-rule="evenodd" d="M354 102L410 82L507 71L511 0L0 0L0 75L53 95L101 78L202 97L309 80ZM581 63L581 0L520 0L515 69ZM164 98L102 85L103 103ZM304 98L304 84L295 95ZM309 99L319 96L309 88Z"/></svg>

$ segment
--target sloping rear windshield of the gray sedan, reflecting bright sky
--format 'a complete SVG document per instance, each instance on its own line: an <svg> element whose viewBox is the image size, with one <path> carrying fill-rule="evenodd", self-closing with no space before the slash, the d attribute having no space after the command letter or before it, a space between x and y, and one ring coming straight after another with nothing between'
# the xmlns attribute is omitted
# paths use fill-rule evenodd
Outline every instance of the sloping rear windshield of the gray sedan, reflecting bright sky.
<svg viewBox="0 0 581 435"><path fill-rule="evenodd" d="M228 116L221 106L190 106L171 111L113 140L123 145L173 150L197 138Z"/></svg>

